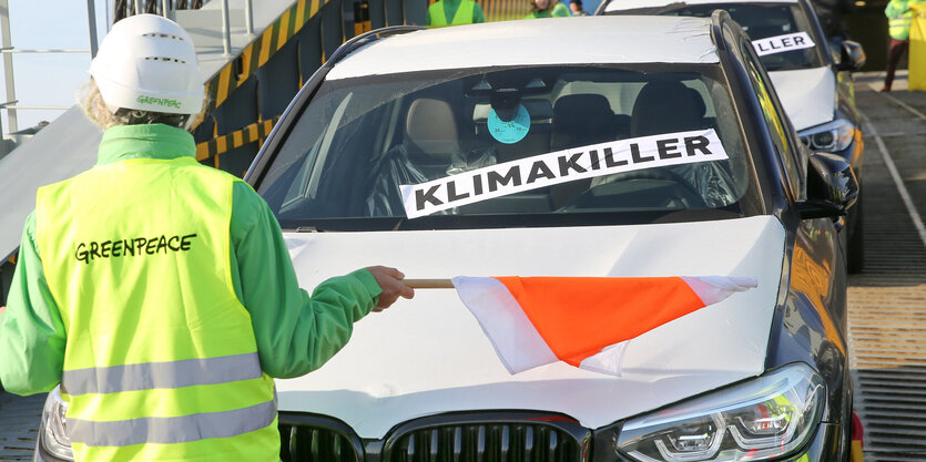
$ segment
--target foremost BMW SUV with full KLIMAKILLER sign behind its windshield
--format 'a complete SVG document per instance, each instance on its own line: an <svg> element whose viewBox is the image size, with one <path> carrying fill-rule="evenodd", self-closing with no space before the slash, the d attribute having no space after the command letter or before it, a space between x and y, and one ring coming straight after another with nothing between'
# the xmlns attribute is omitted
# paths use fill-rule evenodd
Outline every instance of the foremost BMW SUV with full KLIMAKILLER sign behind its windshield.
<svg viewBox="0 0 926 462"><path fill-rule="evenodd" d="M284 462L848 458L833 217L855 177L800 142L723 11L374 31L306 83L245 179L307 289L373 264L757 283L611 350L609 373L509 372L452 289L419 289L356 322L320 369L276 380ZM645 324L668 302L639 294L600 299L637 300ZM567 335L638 326L566 300ZM61 405L47 408L43 460L67 450Z"/></svg>

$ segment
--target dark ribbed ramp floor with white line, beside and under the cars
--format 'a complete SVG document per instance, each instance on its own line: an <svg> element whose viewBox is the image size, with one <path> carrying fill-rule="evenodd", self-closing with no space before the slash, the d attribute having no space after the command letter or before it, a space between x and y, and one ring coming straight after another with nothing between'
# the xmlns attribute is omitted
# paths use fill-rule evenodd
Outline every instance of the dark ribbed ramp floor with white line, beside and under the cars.
<svg viewBox="0 0 926 462"><path fill-rule="evenodd" d="M856 74L864 114L864 269L849 278L849 358L865 461L926 461L926 92L878 92ZM44 394L0 392L0 461L28 461Z"/></svg>

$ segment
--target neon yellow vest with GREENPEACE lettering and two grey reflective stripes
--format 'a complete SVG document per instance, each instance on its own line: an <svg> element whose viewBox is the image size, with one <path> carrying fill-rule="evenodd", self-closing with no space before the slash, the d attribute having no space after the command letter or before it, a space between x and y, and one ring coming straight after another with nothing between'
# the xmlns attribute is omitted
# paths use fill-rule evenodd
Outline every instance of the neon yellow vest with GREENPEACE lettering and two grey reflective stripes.
<svg viewBox="0 0 926 462"><path fill-rule="evenodd" d="M39 189L77 461L278 460L273 380L232 281L238 181L133 158Z"/></svg>

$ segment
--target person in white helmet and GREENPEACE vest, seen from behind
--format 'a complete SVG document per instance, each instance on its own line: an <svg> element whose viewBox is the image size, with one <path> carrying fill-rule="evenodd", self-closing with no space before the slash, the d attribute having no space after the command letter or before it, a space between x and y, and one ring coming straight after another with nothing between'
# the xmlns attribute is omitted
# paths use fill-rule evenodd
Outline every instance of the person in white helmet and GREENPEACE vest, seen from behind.
<svg viewBox="0 0 926 462"><path fill-rule="evenodd" d="M185 127L205 96L180 25L119 21L90 74L96 165L39 188L0 315L0 382L61 383L78 462L278 461L273 378L317 369L355 321L414 291L381 266L298 287L267 204L196 162Z"/></svg>

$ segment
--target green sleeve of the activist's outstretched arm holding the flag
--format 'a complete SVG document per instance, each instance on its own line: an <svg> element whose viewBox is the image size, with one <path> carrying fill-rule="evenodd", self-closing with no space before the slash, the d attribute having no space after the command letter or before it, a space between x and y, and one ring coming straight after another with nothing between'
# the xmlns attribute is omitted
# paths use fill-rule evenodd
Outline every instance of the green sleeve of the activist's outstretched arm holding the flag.
<svg viewBox="0 0 926 462"><path fill-rule="evenodd" d="M233 201L235 290L251 312L264 372L291 378L318 369L347 343L354 322L376 306L379 285L360 269L322 283L309 297L298 286L279 224L264 199L238 182Z"/></svg>

